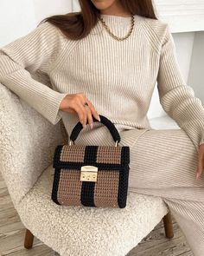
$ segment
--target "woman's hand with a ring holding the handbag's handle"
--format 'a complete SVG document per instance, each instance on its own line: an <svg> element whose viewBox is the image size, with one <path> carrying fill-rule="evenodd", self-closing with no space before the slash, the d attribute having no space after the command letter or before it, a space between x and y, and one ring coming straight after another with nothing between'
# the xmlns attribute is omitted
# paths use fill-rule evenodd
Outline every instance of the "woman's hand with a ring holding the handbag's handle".
<svg viewBox="0 0 204 256"><path fill-rule="evenodd" d="M84 107L85 102L88 103L88 106ZM92 128L92 115L100 121L97 111L92 106L92 102L83 93L66 95L61 101L60 110L79 115L83 128L86 128L87 119L88 124Z"/></svg>

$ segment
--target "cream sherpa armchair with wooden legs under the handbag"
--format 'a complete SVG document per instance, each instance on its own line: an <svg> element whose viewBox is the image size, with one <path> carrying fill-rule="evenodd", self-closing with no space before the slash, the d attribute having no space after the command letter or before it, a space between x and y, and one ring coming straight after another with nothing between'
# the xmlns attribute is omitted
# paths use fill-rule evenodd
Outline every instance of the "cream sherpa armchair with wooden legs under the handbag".
<svg viewBox="0 0 204 256"><path fill-rule="evenodd" d="M51 200L54 148L65 139L61 124L51 124L0 83L0 170L27 228L25 248L32 247L35 235L61 256L124 256L162 219L171 238L169 209L154 196L130 193L124 209L67 207Z"/></svg>

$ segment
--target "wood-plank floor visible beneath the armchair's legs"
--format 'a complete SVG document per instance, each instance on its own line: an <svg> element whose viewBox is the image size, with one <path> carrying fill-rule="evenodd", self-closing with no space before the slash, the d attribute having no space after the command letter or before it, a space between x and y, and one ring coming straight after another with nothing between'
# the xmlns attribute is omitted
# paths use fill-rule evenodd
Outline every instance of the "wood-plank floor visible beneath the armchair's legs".
<svg viewBox="0 0 204 256"><path fill-rule="evenodd" d="M174 221L173 239L165 238L163 221L126 256L193 256L182 231ZM0 173L0 255L48 256L51 248L41 240L34 239L31 250L23 247L25 226L23 226ZM70 255L72 256L72 255Z"/></svg>

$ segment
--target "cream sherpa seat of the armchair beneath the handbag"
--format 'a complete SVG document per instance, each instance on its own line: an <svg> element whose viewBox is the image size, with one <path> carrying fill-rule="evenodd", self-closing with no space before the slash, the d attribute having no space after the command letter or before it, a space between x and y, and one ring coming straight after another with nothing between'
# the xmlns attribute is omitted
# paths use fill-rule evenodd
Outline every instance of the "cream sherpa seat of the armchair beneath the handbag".
<svg viewBox="0 0 204 256"><path fill-rule="evenodd" d="M17 206L22 223L61 256L124 256L168 213L159 197L129 193L125 208L59 206L54 168L42 172Z"/></svg>

